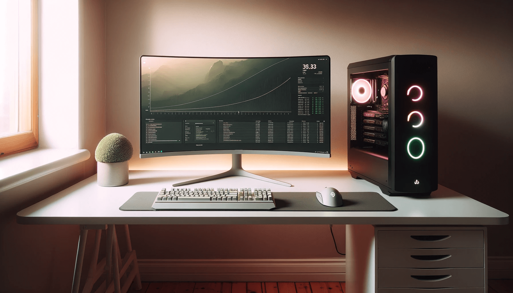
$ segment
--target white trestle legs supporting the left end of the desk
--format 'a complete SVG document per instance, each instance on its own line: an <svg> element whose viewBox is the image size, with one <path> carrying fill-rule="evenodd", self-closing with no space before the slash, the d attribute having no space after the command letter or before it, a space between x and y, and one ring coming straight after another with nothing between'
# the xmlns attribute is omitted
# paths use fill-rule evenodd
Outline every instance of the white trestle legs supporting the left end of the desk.
<svg viewBox="0 0 513 293"><path fill-rule="evenodd" d="M141 276L139 274L139 266L137 265L135 250L132 250L128 225L125 225L128 252L123 259L121 258L120 247L119 243L117 242L117 235L114 225L81 225L81 238L78 242L72 293L78 293L78 287L80 286L82 261L84 257L87 230L89 229L96 229L96 238L94 240L94 252L91 259L91 264L89 266L87 280L84 284L82 293L90 293L93 285L104 274L105 280L95 290L95 293L126 293L132 281L135 282L135 289L140 290L142 288ZM98 263L98 253L100 252L102 230L105 229L107 230L107 253L106 257ZM129 267L131 267L131 269L128 273Z"/></svg>

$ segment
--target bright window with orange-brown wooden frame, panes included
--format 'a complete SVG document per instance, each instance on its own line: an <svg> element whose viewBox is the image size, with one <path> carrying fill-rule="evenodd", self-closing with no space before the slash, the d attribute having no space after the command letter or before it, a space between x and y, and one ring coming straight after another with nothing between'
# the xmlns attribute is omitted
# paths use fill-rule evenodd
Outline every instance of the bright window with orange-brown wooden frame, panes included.
<svg viewBox="0 0 513 293"><path fill-rule="evenodd" d="M0 157L37 147L37 0L0 1Z"/></svg>

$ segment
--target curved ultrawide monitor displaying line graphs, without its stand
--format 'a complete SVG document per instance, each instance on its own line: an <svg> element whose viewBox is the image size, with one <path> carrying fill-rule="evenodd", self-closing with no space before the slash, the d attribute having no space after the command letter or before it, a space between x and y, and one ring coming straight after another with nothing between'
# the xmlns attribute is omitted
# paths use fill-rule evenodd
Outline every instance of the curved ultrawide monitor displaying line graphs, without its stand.
<svg viewBox="0 0 513 293"><path fill-rule="evenodd" d="M140 157L330 157L329 56L141 56Z"/></svg>

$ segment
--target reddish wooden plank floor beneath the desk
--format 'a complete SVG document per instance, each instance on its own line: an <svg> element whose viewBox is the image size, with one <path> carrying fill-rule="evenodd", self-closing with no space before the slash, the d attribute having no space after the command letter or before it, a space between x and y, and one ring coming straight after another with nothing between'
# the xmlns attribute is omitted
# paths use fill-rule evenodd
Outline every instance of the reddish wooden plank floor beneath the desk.
<svg viewBox="0 0 513 293"><path fill-rule="evenodd" d="M128 293L345 293L344 282L143 282ZM488 293L513 293L513 280L488 280Z"/></svg>

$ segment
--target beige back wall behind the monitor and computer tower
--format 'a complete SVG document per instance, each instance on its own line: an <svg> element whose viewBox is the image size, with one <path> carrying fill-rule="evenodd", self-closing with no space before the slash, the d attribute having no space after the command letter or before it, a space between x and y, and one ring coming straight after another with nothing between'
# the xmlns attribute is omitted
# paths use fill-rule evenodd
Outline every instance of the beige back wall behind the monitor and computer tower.
<svg viewBox="0 0 513 293"><path fill-rule="evenodd" d="M513 77L510 13L507 2L107 1L106 131L123 133L139 151L139 56L143 54L327 54L331 56L332 157L243 155L243 166L346 169L347 65L391 54L433 54L439 66L439 181L511 214L513 197L508 180L502 180L512 175L508 167L513 140L512 94L507 86ZM228 169L229 165L229 155L158 159L134 155L130 161L131 169ZM490 227L490 256L513 255L511 227ZM329 244L322 244L328 232L324 227L268 229L283 258L305 253L333 256L332 248L324 246ZM296 229L301 232L291 232ZM255 247L269 238L265 226L134 227L132 237L135 247L144 247L138 248L142 258L156 257L148 247L152 237L165 242L186 239L181 248L184 257L201 258L209 255L195 253L194 243L203 243L206 231L214 243L224 242L231 233L235 239L251 236ZM295 237L301 238L301 247ZM323 249L309 250L315 246ZM248 257L244 251L223 249L213 256ZM161 257L180 256L166 252Z"/></svg>

